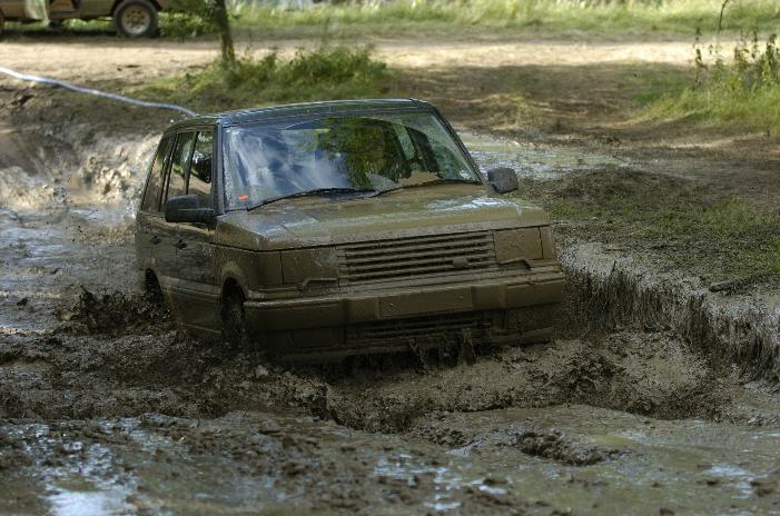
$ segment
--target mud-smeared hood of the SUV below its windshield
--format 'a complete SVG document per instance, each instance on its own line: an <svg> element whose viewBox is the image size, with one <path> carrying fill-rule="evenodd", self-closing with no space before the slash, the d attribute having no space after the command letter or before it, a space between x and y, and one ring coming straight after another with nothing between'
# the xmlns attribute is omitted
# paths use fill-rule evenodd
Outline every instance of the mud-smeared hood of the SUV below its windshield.
<svg viewBox="0 0 780 516"><path fill-rule="evenodd" d="M406 188L376 197L298 197L219 218L216 244L253 250L550 224L540 208L475 185Z"/></svg>

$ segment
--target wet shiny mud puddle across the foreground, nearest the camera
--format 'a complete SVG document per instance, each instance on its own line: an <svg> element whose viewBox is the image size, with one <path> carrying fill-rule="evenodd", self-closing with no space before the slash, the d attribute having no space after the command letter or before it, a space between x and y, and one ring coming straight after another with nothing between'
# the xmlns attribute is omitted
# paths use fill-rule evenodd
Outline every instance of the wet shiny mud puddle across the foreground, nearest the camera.
<svg viewBox="0 0 780 516"><path fill-rule="evenodd" d="M3 431L17 514L780 514L777 429L579 405L432 414L411 436L261 413Z"/></svg>

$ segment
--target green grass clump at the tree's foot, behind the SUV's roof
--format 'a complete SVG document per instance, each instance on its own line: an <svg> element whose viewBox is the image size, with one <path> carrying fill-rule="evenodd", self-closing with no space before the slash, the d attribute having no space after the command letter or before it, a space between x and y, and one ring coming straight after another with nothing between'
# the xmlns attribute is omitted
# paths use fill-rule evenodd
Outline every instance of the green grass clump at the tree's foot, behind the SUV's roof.
<svg viewBox="0 0 780 516"><path fill-rule="evenodd" d="M233 64L215 61L197 72L158 80L144 98L175 102L198 112L268 103L386 96L391 73L371 48L323 46L299 49L290 58L276 51Z"/></svg>

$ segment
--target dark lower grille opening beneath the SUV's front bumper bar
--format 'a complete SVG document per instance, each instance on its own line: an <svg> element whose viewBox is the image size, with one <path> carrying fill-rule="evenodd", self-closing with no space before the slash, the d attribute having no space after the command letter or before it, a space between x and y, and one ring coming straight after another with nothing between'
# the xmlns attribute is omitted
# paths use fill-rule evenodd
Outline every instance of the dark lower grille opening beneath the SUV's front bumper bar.
<svg viewBox="0 0 780 516"><path fill-rule="evenodd" d="M492 319L482 312L383 320L347 328L347 341L377 343L436 336L455 338L465 329L471 329L472 336L478 338L492 324Z"/></svg>

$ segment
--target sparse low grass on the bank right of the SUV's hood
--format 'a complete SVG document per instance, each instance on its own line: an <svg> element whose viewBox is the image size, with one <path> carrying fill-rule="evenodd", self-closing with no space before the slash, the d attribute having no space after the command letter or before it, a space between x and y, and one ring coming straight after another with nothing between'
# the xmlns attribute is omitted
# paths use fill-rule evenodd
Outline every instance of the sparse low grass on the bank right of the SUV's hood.
<svg viewBox="0 0 780 516"><path fill-rule="evenodd" d="M527 179L521 191L579 238L650 251L705 281L780 281L780 207L622 170Z"/></svg>

